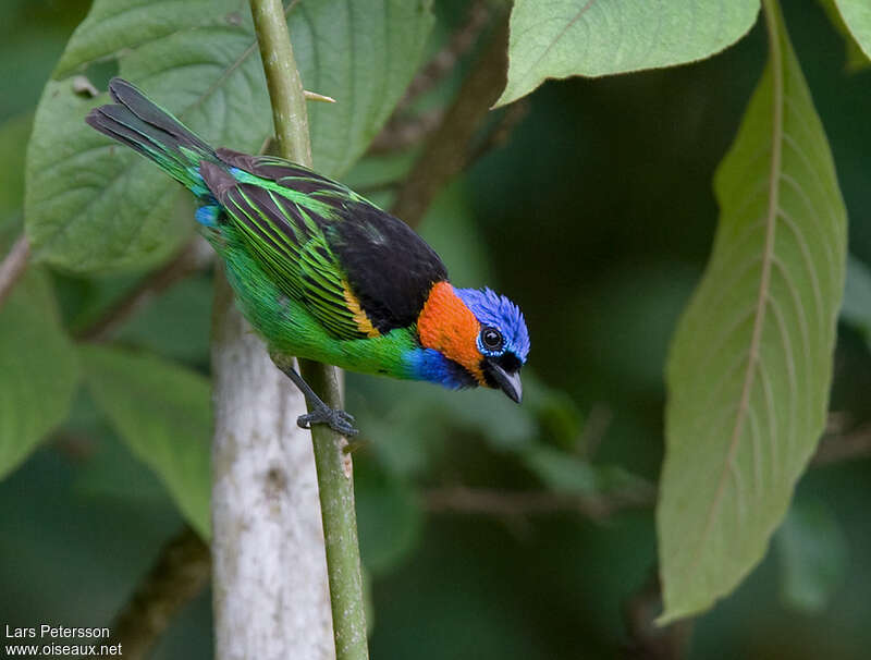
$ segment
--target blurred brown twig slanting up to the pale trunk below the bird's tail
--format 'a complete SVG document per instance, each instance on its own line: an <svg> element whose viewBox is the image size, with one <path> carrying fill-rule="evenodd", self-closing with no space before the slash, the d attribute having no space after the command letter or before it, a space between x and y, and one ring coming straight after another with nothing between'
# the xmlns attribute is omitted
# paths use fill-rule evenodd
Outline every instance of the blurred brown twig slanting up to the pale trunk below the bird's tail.
<svg viewBox="0 0 871 660"><path fill-rule="evenodd" d="M111 305L96 321L75 332L78 341L101 342L120 326L170 286L203 270L214 260L214 250L199 236L187 243L158 270L146 276L123 298Z"/></svg>

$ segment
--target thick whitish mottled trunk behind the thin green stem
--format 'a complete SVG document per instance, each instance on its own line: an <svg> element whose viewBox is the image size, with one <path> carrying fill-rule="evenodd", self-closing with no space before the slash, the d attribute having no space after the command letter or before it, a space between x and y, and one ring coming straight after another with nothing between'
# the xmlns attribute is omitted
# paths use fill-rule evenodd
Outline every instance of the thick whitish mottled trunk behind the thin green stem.
<svg viewBox="0 0 871 660"><path fill-rule="evenodd" d="M216 281L212 591L218 660L331 660L327 566L304 401Z"/></svg>

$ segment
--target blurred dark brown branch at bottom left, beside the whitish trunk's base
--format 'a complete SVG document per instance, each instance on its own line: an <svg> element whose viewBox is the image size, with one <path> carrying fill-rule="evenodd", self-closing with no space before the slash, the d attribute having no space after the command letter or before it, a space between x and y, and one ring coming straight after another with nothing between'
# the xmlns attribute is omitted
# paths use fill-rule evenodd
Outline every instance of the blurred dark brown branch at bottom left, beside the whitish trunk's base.
<svg viewBox="0 0 871 660"><path fill-rule="evenodd" d="M126 660L146 658L176 613L203 591L210 574L209 547L185 525L115 619L108 645L120 644Z"/></svg>

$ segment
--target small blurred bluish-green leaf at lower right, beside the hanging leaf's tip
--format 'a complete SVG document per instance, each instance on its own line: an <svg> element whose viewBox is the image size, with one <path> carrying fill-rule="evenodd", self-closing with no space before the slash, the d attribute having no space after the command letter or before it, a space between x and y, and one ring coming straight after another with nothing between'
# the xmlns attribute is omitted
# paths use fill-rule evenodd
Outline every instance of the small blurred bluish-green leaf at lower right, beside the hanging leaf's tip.
<svg viewBox="0 0 871 660"><path fill-rule="evenodd" d="M832 512L818 501L797 501L775 536L786 604L823 611L847 572L847 540Z"/></svg>

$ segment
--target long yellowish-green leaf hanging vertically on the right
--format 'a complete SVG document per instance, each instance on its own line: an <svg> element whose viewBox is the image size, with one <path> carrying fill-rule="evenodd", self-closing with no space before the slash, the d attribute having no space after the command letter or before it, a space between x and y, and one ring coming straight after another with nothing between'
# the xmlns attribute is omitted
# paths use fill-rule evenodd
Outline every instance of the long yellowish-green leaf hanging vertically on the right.
<svg viewBox="0 0 871 660"><path fill-rule="evenodd" d="M661 622L759 562L825 423L846 211L782 17L765 13L769 63L714 179L713 254L666 369Z"/></svg>

